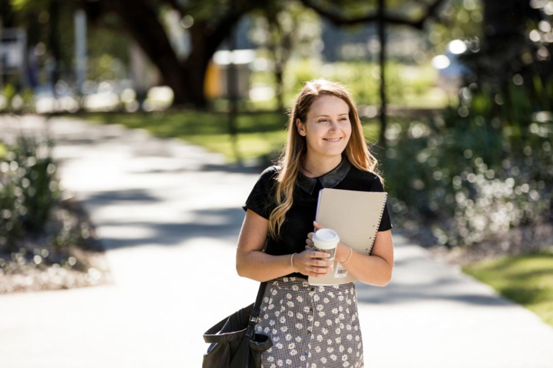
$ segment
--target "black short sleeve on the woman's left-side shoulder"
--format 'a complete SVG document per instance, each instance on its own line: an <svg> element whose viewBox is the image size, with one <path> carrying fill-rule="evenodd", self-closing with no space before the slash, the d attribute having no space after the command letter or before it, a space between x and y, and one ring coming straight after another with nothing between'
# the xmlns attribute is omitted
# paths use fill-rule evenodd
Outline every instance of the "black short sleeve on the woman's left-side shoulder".
<svg viewBox="0 0 553 368"><path fill-rule="evenodd" d="M269 215L275 208L274 185L277 172L278 166L269 166L261 173L246 203L242 206L244 211L251 209L265 219L269 219Z"/></svg>

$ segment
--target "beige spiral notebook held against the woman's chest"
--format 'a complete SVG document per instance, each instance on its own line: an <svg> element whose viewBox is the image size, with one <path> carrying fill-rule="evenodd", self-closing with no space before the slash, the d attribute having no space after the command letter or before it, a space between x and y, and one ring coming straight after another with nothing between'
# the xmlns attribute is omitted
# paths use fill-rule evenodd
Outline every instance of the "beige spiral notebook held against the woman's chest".
<svg viewBox="0 0 553 368"><path fill-rule="evenodd" d="M335 230L340 241L353 250L371 254L380 220L384 213L386 192L362 192L323 188L319 191L316 222ZM309 276L310 285L337 285L357 281L340 262L325 276Z"/></svg>

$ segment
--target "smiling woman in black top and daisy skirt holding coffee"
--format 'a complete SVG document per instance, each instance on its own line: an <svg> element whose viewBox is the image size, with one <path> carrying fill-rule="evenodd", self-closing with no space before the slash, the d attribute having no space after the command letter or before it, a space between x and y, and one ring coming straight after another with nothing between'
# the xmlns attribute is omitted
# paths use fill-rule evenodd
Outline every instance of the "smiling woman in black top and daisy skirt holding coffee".
<svg viewBox="0 0 553 368"><path fill-rule="evenodd" d="M262 367L363 367L354 283L313 287L307 276L333 271L324 260L330 255L312 249L312 231L322 228L314 222L319 190L383 191L377 160L338 83L307 82L288 125L279 165L263 171L243 206L236 253L240 276L269 281L255 326L273 341ZM391 228L384 209L371 255L339 243L336 260L358 280L386 286L394 263Z"/></svg>

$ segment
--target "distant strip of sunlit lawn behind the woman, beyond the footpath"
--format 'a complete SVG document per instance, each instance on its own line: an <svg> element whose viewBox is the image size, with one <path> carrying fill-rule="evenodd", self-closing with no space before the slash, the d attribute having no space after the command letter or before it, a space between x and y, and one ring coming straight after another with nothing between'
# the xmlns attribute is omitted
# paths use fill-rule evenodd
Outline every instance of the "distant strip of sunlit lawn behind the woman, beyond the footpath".
<svg viewBox="0 0 553 368"><path fill-rule="evenodd" d="M224 113L198 111L166 111L155 113L91 113L77 115L102 124L122 124L129 128L143 128L156 136L177 137L206 149L225 155L228 162L236 162L236 155L228 134L228 117ZM242 159L269 156L275 158L286 140L288 115L279 112L242 113L237 117L238 153ZM377 139L378 120L363 124L370 142Z"/></svg>

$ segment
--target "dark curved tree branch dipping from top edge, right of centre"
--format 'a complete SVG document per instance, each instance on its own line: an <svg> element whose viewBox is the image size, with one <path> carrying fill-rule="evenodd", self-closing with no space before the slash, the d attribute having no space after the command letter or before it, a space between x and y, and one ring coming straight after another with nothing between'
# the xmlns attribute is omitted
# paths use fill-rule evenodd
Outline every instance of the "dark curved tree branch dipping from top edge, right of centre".
<svg viewBox="0 0 553 368"><path fill-rule="evenodd" d="M324 9L314 4L311 0L300 0L300 1L304 4L304 6L315 10L315 12L327 18L335 25L353 25L353 24L359 24L359 23L371 23L371 22L376 22L378 20L377 12L369 13L367 15L363 15L362 17L358 17L358 18L346 18L346 17L343 17L343 15L341 14L333 13L327 9ZM418 20L399 17L398 15L393 15L393 14L384 14L384 22L389 24L407 25L409 27L413 27L416 29L422 29L427 19L429 18L439 19L436 13L438 8L441 6L442 3L444 3L444 1L445 0L435 0L433 3L427 6L425 14L423 14L421 18Z"/></svg>

